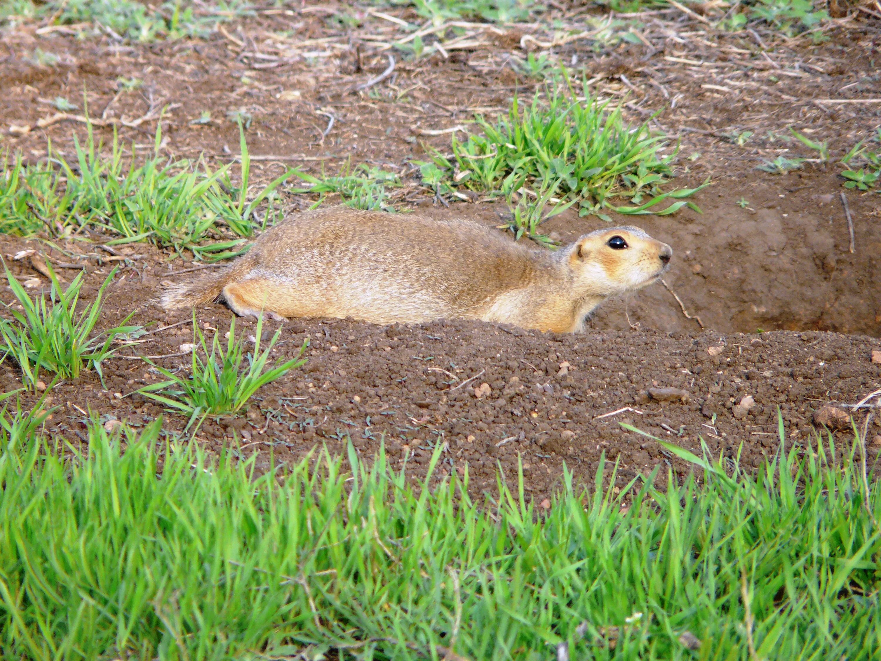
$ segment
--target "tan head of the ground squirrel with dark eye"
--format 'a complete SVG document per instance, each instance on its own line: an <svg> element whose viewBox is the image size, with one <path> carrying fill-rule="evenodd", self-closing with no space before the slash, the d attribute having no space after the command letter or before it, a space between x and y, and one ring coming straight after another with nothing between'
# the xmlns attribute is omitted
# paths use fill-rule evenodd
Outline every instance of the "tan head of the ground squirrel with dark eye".
<svg viewBox="0 0 881 661"><path fill-rule="evenodd" d="M594 296L640 289L659 279L673 250L639 227L612 227L585 234L561 250L576 288Z"/></svg>

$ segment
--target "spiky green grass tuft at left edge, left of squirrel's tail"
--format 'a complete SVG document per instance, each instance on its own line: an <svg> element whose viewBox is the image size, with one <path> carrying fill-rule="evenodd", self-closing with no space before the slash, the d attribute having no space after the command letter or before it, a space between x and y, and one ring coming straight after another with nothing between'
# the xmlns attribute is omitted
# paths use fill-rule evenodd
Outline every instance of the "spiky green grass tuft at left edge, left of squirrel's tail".
<svg viewBox="0 0 881 661"><path fill-rule="evenodd" d="M101 316L104 290L113 281L116 269L100 286L95 300L78 314L83 273L80 272L62 291L52 265L47 262L46 268L52 280L49 300L44 293L32 300L4 264L12 294L22 309L19 312L8 307L12 319L0 319L0 338L3 340L0 352L4 353L4 358L11 356L19 363L22 382L28 389L36 386L41 370L63 379L75 379L83 369L93 368L103 382L101 361L115 353L118 348L112 346L115 339L138 330L137 326L122 325L94 332ZM131 315L122 323L130 318Z"/></svg>

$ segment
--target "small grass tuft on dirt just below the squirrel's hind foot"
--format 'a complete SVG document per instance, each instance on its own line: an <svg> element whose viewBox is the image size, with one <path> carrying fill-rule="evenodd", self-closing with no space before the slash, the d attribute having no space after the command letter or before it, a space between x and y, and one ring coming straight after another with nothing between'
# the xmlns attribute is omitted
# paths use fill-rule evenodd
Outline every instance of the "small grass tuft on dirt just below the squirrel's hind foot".
<svg viewBox="0 0 881 661"><path fill-rule="evenodd" d="M279 376L293 368L299 368L306 362L302 360L302 355L306 352L308 340L300 346L298 358L287 360L282 364L277 362L273 368L263 371L272 348L278 342L281 329L275 332L265 351L260 353L262 334L263 317L257 321L254 353L246 353L244 338L235 337L235 317L233 317L229 325L226 351L218 337L219 331L215 331L209 355L204 333L196 323L194 311L192 366L189 379L161 368L152 360L145 358L144 360L156 368L159 374L165 376L167 381L151 383L136 392L167 405L172 411L189 415L187 428L200 416L204 419L207 415L239 412L242 406L248 403L248 399L266 383L275 381ZM200 350L205 360L199 356Z"/></svg>

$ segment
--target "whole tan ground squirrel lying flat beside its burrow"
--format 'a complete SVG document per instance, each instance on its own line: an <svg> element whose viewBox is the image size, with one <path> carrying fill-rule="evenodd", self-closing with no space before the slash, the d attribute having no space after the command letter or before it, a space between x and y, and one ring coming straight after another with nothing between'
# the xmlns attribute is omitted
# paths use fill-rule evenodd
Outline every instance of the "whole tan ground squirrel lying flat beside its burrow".
<svg viewBox="0 0 881 661"><path fill-rule="evenodd" d="M222 271L170 286L161 304L580 332L602 301L658 279L672 254L639 227L598 230L552 252L468 220L331 207L285 220Z"/></svg>

